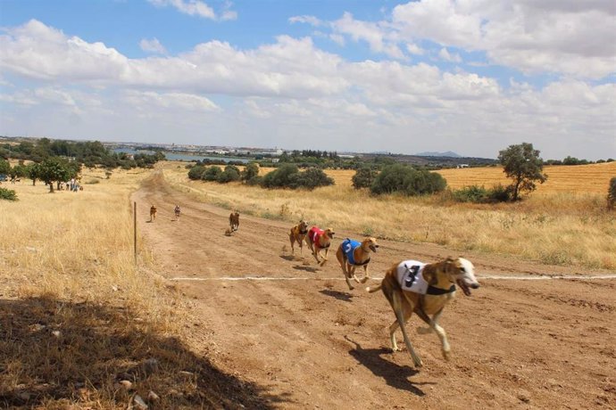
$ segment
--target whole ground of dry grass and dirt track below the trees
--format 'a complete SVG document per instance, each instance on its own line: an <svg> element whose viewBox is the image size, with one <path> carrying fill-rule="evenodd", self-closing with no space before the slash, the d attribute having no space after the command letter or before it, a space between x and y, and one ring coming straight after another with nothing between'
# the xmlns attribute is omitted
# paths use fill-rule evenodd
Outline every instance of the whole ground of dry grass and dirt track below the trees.
<svg viewBox="0 0 616 410"><path fill-rule="evenodd" d="M616 406L606 187L539 194L544 185L489 208L372 198L343 183L304 193L194 182L171 162L84 180L82 193L22 183L20 201L0 202L0 228L14 236L0 242L0 404L127 408L154 390L156 408ZM240 226L226 236L229 209ZM287 233L302 216L336 230L325 266L305 247L304 258L290 253ZM463 252L475 264L481 288L441 320L450 362L412 318L424 361L413 368L389 348L394 316L382 294L348 290L332 253L362 234L379 236L374 278L403 258Z"/></svg>

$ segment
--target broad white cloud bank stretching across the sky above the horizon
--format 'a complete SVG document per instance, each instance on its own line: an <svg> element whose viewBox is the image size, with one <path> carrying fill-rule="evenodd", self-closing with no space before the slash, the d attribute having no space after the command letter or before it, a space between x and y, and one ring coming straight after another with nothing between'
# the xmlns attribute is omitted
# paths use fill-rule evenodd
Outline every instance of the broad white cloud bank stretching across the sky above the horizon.
<svg viewBox="0 0 616 410"><path fill-rule="evenodd" d="M357 38L369 32L358 30ZM380 38L373 41L385 50L393 37ZM451 54L454 45L439 48ZM487 157L520 141L544 158L597 159L616 148L613 83L562 77L503 87L487 75L426 62L345 61L308 37L280 36L252 49L209 41L179 55L129 59L29 21L0 36L0 70L11 84L29 84L0 94L5 135L161 142L174 135L193 143L200 135L197 143L446 148Z"/></svg>

